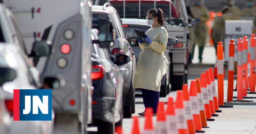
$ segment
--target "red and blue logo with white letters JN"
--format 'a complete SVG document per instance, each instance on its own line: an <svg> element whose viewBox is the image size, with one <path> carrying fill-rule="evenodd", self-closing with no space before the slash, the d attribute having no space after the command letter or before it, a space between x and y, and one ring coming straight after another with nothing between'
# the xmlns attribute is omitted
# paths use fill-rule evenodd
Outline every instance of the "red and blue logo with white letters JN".
<svg viewBox="0 0 256 134"><path fill-rule="evenodd" d="M14 89L14 121L51 121L52 90Z"/></svg>

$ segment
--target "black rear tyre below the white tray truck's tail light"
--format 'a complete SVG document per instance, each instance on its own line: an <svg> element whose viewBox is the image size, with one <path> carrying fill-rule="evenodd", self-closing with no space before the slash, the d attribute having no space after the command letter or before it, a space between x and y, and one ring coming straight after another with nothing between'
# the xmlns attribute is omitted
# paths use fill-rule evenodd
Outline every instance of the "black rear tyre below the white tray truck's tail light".
<svg viewBox="0 0 256 134"><path fill-rule="evenodd" d="M184 84L185 75L172 75L171 79L171 90L182 90Z"/></svg>

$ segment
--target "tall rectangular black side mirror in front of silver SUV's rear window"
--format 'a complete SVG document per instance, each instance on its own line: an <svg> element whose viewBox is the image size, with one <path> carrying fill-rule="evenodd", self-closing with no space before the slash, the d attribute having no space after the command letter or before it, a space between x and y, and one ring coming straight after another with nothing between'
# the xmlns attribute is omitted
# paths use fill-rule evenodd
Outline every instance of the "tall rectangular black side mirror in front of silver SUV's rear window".
<svg viewBox="0 0 256 134"><path fill-rule="evenodd" d="M100 48L108 48L114 45L113 27L108 20L99 20L99 46Z"/></svg>

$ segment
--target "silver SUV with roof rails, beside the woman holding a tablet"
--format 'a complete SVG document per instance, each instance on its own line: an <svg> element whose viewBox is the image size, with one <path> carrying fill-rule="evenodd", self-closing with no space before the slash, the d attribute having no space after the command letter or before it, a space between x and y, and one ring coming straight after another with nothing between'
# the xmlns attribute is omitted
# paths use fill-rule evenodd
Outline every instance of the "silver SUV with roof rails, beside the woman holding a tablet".
<svg viewBox="0 0 256 134"><path fill-rule="evenodd" d="M92 6L93 25L99 19L106 19L112 22L116 38L114 39L114 46L111 47L111 53L123 53L130 57L131 61L127 64L120 65L119 69L124 78L123 84L123 115L125 118L130 118L132 113L135 113L134 87L132 84L133 76L136 68L136 58L132 47L128 41L126 33L123 29L121 19L116 9L109 3L103 6Z"/></svg>

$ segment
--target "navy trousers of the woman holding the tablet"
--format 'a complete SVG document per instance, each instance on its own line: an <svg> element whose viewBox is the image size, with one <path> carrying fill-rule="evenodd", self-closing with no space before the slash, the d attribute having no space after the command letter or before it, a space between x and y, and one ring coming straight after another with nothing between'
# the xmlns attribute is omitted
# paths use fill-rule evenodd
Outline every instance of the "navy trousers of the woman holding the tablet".
<svg viewBox="0 0 256 134"><path fill-rule="evenodd" d="M159 101L159 92L147 89L141 89L141 92L145 108L152 107L154 114L156 114L158 109L157 104Z"/></svg>

